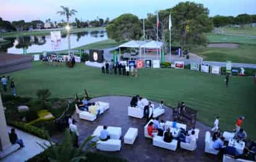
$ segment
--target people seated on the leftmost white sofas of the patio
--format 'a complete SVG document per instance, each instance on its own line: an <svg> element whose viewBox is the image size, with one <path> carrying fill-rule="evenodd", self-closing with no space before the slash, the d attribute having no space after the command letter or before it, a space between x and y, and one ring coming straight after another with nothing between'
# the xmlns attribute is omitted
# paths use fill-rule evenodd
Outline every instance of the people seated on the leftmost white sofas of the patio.
<svg viewBox="0 0 256 162"><path fill-rule="evenodd" d="M88 111L89 113L94 114L96 116L96 119L99 118L101 110L99 109L98 103L89 103L84 97L83 100L80 100L78 98L78 100L76 101L76 105L81 111Z"/></svg>

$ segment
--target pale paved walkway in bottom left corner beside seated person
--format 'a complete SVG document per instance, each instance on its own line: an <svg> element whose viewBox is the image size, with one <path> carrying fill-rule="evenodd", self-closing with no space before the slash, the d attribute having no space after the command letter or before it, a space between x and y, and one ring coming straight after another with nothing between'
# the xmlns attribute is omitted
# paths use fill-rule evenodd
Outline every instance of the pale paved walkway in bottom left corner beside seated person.
<svg viewBox="0 0 256 162"><path fill-rule="evenodd" d="M11 128L12 127L8 127L8 132L11 132ZM47 143L47 145L49 144L47 140L40 139L39 137L35 137L31 134L27 134L26 132L23 132L19 129L16 129L16 134L18 135L19 139L23 140L25 147L20 148L11 155L6 156L5 158L1 159L0 162L24 162L43 151L43 148L40 147L37 143Z"/></svg>

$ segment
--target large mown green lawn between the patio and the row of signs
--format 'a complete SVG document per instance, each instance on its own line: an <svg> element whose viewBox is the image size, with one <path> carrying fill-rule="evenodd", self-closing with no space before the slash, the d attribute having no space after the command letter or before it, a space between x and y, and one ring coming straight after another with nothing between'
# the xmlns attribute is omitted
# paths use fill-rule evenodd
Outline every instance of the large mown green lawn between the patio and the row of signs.
<svg viewBox="0 0 256 162"><path fill-rule="evenodd" d="M52 98L74 98L86 88L91 96L139 94L150 100L163 100L170 106L185 101L199 110L199 121L209 126L215 116L221 116L222 130L232 130L237 117L242 115L244 129L250 138L256 139L256 84L252 77L231 77L227 89L225 76L186 69L141 69L138 79L103 75L100 71L83 64L68 69L34 62L31 69L14 72L11 77L16 80L16 91L21 96L35 97L37 89L49 88Z"/></svg>

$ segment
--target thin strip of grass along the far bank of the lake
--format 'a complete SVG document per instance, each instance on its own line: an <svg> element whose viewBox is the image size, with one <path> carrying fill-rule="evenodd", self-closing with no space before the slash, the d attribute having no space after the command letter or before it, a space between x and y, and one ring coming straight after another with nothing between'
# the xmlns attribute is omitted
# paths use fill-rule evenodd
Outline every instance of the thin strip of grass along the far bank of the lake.
<svg viewBox="0 0 256 162"><path fill-rule="evenodd" d="M78 33L78 32L89 32L92 30L104 30L104 27L98 28L71 28L70 33ZM57 31L57 30L52 30ZM50 35L51 30L41 30L41 31L33 31L33 32L5 32L2 33L2 38L15 37L15 36L30 36L30 35ZM66 33L66 30L61 30L62 34Z"/></svg>

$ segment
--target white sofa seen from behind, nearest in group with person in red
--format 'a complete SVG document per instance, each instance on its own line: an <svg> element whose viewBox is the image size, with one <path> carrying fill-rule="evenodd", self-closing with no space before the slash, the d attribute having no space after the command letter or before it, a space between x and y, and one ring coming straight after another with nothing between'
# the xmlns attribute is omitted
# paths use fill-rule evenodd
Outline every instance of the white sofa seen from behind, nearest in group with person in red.
<svg viewBox="0 0 256 162"><path fill-rule="evenodd" d="M172 140L170 143L168 143L163 141L163 137L160 137L157 135L153 137L153 146L175 151L177 148L177 145L178 145L177 140Z"/></svg>

